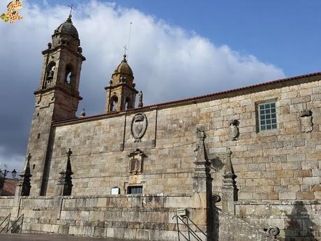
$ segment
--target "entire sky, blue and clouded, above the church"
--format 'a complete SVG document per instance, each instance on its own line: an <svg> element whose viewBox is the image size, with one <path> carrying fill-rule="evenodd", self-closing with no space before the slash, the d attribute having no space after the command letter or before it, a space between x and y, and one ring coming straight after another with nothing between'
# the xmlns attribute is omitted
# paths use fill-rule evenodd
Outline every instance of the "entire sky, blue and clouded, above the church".
<svg viewBox="0 0 321 241"><path fill-rule="evenodd" d="M23 20L0 21L0 168L22 169L33 91L66 1L22 0ZM6 12L9 0L0 0ZM128 45L144 104L320 71L320 1L72 1L84 61L80 110L103 112L105 85ZM259 3L260 2L260 3ZM0 13L0 15L1 15Z"/></svg>

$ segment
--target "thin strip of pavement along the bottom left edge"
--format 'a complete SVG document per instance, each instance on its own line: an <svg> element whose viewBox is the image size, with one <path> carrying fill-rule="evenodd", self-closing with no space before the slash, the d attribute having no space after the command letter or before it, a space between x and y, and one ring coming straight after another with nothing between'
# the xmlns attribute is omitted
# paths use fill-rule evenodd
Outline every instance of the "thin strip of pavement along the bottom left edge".
<svg viewBox="0 0 321 241"><path fill-rule="evenodd" d="M91 238L73 235L50 235L50 234L8 234L0 235L0 241L124 241L113 238Z"/></svg>

